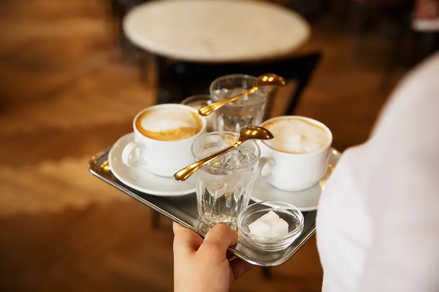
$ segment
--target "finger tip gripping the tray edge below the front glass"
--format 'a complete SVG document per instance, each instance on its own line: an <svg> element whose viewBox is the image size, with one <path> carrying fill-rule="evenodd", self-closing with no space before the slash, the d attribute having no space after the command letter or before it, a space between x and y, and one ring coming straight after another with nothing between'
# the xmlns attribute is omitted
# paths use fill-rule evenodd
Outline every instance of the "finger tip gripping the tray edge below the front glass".
<svg viewBox="0 0 439 292"><path fill-rule="evenodd" d="M230 245L238 241L238 235L225 224L215 225L204 238L202 245L215 247L221 253L227 251Z"/></svg>

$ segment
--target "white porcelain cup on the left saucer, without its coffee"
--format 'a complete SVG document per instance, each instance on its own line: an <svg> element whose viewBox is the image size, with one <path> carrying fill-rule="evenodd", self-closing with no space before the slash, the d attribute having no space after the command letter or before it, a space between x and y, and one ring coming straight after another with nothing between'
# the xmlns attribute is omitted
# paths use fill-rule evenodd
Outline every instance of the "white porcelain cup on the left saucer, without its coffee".
<svg viewBox="0 0 439 292"><path fill-rule="evenodd" d="M204 117L199 116L203 124L201 130L183 140L155 140L146 137L137 130L136 120L139 115L152 108L165 107L175 108L176 110L189 110L198 115L197 110L191 106L179 104L151 106L139 112L133 121L135 140L128 143L122 151L122 162L128 167L144 166L155 175L173 177L177 171L193 163L191 146L199 135L206 132L206 119Z"/></svg>

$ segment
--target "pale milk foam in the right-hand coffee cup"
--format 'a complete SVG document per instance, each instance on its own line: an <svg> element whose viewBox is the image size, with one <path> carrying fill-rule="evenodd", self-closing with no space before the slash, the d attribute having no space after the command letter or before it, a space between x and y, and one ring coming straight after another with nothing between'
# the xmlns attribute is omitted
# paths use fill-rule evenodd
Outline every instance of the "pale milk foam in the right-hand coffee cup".
<svg viewBox="0 0 439 292"><path fill-rule="evenodd" d="M301 118L281 118L270 121L262 127L273 133L274 138L265 143L274 150L304 154L317 152L328 145L328 130Z"/></svg>

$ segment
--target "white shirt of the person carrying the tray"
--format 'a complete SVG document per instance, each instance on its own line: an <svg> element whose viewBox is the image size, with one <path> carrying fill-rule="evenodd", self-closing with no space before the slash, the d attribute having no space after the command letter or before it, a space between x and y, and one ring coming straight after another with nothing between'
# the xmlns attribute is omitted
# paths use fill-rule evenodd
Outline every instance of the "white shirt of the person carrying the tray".
<svg viewBox="0 0 439 292"><path fill-rule="evenodd" d="M439 292L439 54L341 157L320 200L317 246L323 292Z"/></svg>

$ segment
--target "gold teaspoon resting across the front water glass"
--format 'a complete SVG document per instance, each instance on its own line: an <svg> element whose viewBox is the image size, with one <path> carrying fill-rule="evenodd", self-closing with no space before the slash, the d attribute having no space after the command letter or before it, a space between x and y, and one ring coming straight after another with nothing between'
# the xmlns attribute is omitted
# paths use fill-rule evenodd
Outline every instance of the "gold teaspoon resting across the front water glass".
<svg viewBox="0 0 439 292"><path fill-rule="evenodd" d="M238 147L243 142L245 142L249 139L270 140L270 139L273 139L273 134L270 133L270 131L268 131L267 129L262 128L262 127L258 127L258 126L250 126L250 127L243 128L243 129L241 129L240 136L239 136L238 140L235 142L235 144L233 144L232 146L230 146L224 150L221 150L218 153L215 153L209 157L198 160L189 166L186 166L182 170L176 172L174 174L174 178L179 182L186 180L195 171L200 169L203 165L206 165L210 161L219 158L221 155L223 155L229 151L232 151L233 149L235 149L236 147Z"/></svg>

